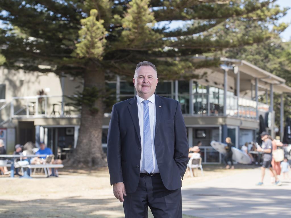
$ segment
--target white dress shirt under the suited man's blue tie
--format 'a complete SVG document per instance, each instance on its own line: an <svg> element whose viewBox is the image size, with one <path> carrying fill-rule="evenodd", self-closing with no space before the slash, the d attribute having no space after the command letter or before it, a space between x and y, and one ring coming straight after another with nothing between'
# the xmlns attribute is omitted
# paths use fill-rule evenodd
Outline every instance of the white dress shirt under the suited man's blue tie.
<svg viewBox="0 0 291 218"><path fill-rule="evenodd" d="M144 145L143 145L143 101L138 95L136 95L137 100L137 111L139 113L139 130L141 134L141 162L140 162L140 172L146 173L142 166L144 166ZM157 158L156 158L156 151L155 151L155 128L156 128L156 107L155 107L155 94L149 97L148 109L149 109L149 116L150 116L150 135L152 137L152 160L153 160L153 170L151 173L159 173L159 168L157 165Z"/></svg>

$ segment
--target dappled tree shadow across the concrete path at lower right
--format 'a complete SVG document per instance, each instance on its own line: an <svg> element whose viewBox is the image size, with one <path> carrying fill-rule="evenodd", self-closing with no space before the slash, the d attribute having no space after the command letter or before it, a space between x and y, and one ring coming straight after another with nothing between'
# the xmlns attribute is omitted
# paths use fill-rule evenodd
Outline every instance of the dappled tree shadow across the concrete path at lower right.
<svg viewBox="0 0 291 218"><path fill-rule="evenodd" d="M182 190L183 212L204 218L291 217L290 183L281 187L185 188ZM286 188L284 188L286 187Z"/></svg>

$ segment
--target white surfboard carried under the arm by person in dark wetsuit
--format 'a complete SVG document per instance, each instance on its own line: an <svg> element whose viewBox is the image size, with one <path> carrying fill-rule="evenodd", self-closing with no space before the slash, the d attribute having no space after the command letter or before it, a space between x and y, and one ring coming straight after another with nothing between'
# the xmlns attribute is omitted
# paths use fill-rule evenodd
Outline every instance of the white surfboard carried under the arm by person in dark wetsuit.
<svg viewBox="0 0 291 218"><path fill-rule="evenodd" d="M225 150L225 146L227 146L227 144L224 144L222 142L215 142L212 141L210 142L210 145L219 153L226 155L227 152ZM243 151L235 148L235 147L231 147L231 151L233 152L233 160L235 160L238 163L242 163L242 164L249 164L251 163L251 158L249 155L247 155L246 153L244 153Z"/></svg>

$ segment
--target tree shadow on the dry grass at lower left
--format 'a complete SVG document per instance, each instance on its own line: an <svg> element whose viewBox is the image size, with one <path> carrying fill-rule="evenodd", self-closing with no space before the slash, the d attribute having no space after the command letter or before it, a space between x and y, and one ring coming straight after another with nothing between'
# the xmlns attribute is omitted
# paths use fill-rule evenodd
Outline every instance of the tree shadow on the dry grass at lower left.
<svg viewBox="0 0 291 218"><path fill-rule="evenodd" d="M124 218L123 206L116 199L36 199L32 201L0 200L1 218ZM154 218L149 210L148 218ZM183 218L193 216L183 215Z"/></svg>

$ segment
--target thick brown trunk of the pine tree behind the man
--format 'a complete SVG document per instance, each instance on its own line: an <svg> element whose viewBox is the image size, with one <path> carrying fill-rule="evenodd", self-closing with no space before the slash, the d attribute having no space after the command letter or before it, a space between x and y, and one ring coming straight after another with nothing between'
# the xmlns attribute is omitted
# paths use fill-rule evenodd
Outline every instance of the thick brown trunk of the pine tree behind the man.
<svg viewBox="0 0 291 218"><path fill-rule="evenodd" d="M105 87L104 72L92 62L84 74L84 87ZM82 105L81 125L77 147L66 164L77 167L106 166L106 155L102 151L102 124L104 117L104 104L101 98L95 101L94 106L98 112L92 114L89 107Z"/></svg>

